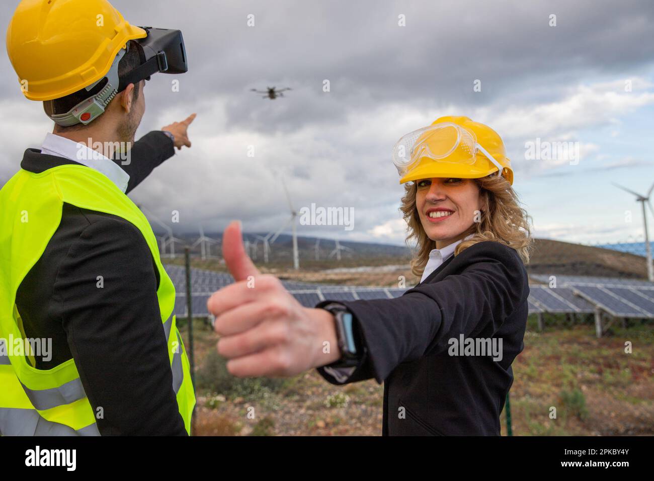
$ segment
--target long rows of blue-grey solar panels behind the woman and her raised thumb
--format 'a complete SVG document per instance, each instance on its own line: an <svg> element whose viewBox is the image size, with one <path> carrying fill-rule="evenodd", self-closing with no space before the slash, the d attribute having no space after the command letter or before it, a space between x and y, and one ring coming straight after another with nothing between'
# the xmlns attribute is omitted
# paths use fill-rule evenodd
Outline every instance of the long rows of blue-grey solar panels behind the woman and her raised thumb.
<svg viewBox="0 0 654 481"><path fill-rule="evenodd" d="M186 270L168 264L166 272L177 291L175 314L186 316ZM545 274L533 274L532 279L549 283ZM654 318L654 283L615 277L556 276L557 287L530 285L529 313L593 313L595 307L614 317ZM207 300L218 289L233 283L224 272L192 269L192 312L208 316ZM282 281L284 287L302 304L312 308L322 300L373 300L401 296L407 289L396 287L345 287L330 284Z"/></svg>

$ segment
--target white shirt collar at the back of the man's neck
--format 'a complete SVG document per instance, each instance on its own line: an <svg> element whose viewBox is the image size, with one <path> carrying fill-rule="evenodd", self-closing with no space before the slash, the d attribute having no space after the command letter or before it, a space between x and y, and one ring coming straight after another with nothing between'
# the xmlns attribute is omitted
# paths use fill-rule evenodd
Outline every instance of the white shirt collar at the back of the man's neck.
<svg viewBox="0 0 654 481"><path fill-rule="evenodd" d="M48 132L43 145L41 145L41 153L75 160L75 162L103 173L123 192L127 190L128 173L110 158L82 143Z"/></svg>

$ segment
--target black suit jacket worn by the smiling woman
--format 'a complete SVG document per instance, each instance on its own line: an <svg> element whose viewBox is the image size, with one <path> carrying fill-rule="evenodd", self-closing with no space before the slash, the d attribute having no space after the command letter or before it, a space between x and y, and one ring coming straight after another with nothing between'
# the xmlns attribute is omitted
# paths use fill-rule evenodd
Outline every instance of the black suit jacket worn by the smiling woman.
<svg viewBox="0 0 654 481"><path fill-rule="evenodd" d="M353 312L366 348L344 383L385 383L383 435L500 435L511 363L524 348L528 295L515 249L482 241L399 298L338 301ZM502 359L451 355L451 340L460 336L496 346L502 340ZM324 368L318 372L339 384Z"/></svg>

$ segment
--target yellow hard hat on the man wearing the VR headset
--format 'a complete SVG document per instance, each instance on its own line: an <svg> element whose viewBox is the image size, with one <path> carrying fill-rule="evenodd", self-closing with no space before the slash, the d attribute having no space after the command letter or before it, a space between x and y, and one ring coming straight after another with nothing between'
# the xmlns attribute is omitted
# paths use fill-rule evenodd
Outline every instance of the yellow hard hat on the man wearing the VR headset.
<svg viewBox="0 0 654 481"><path fill-rule="evenodd" d="M102 79L128 41L147 35L107 0L22 0L7 54L26 98L45 101Z"/></svg>

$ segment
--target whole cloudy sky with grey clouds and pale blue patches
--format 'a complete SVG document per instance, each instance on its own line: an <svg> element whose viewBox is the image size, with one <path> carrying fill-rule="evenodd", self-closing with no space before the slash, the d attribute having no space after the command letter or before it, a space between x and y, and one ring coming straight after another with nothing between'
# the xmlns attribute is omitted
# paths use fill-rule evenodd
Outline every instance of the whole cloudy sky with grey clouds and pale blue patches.
<svg viewBox="0 0 654 481"><path fill-rule="evenodd" d="M16 5L0 5L3 28ZM536 237L642 240L640 206L611 182L637 192L654 183L649 0L112 5L132 24L184 34L190 70L148 82L137 138L197 112L193 147L131 194L164 221L179 211L175 232L199 223L217 231L231 219L246 231L277 230L289 217L283 176L296 209L354 208L353 230L300 225L300 235L401 244L404 188L392 147L439 116L465 115L504 139ZM24 98L6 55L0 71L4 183L52 122ZM250 92L266 86L292 90L274 101ZM536 139L576 143L578 162L529 158Z"/></svg>

